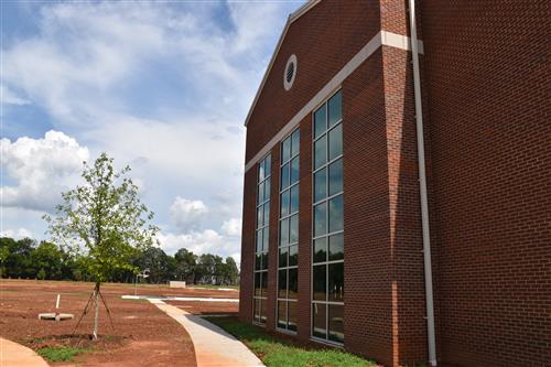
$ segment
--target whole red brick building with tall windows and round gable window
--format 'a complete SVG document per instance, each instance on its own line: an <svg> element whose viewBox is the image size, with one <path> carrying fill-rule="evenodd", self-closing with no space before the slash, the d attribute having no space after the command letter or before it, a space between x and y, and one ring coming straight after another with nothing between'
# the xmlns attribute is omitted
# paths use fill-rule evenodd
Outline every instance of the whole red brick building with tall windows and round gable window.
<svg viewBox="0 0 551 367"><path fill-rule="evenodd" d="M389 366L549 366L549 2L411 4L289 17L246 121L240 319Z"/></svg>

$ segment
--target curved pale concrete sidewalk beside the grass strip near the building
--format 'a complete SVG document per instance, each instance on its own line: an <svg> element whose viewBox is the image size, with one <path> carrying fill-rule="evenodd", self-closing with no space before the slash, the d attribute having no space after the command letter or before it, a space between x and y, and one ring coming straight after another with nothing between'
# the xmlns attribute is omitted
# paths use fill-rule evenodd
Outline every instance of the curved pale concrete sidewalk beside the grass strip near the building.
<svg viewBox="0 0 551 367"><path fill-rule="evenodd" d="M161 300L149 300L177 321L192 337L197 367L262 367L258 357L233 335Z"/></svg>

